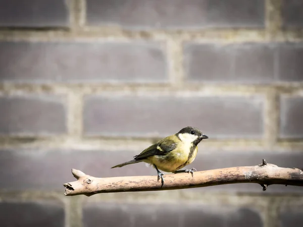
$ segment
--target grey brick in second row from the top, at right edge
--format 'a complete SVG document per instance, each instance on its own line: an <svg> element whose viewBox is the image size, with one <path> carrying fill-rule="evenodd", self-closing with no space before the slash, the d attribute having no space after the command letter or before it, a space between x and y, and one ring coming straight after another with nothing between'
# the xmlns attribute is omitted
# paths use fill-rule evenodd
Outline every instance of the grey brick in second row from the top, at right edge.
<svg viewBox="0 0 303 227"><path fill-rule="evenodd" d="M187 81L276 83L303 80L301 43L186 43Z"/></svg>

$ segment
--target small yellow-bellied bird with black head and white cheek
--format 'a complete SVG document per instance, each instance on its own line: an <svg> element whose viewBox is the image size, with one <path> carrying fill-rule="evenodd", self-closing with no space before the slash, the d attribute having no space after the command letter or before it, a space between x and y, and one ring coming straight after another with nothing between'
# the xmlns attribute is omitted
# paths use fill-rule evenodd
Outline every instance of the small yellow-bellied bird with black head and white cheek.
<svg viewBox="0 0 303 227"><path fill-rule="evenodd" d="M158 181L161 178L161 187L163 187L164 174L161 173L159 169L174 174L191 173L193 177L193 171L196 171L195 168L178 169L193 162L198 151L198 143L208 138L209 137L204 135L198 128L188 126L181 129L178 133L147 147L140 154L135 155L133 160L115 165L112 168L144 161L156 168Z"/></svg>

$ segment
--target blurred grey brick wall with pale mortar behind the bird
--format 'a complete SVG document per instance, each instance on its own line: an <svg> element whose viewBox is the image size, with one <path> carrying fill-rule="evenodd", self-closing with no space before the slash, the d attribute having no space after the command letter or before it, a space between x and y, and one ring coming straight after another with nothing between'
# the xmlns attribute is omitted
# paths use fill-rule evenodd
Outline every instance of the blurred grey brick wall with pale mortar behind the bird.
<svg viewBox="0 0 303 227"><path fill-rule="evenodd" d="M190 167L303 167L303 1L0 1L3 226L303 223L303 189L240 184L64 197L182 127Z"/></svg>

